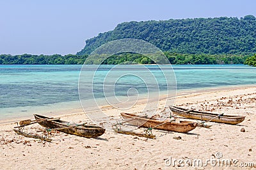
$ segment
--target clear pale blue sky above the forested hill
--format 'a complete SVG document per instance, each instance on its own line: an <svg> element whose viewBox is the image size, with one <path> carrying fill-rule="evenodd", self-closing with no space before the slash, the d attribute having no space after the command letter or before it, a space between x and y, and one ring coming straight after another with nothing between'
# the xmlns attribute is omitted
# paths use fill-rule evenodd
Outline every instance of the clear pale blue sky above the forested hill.
<svg viewBox="0 0 256 170"><path fill-rule="evenodd" d="M255 0L0 0L0 54L76 54L128 21L256 16Z"/></svg>

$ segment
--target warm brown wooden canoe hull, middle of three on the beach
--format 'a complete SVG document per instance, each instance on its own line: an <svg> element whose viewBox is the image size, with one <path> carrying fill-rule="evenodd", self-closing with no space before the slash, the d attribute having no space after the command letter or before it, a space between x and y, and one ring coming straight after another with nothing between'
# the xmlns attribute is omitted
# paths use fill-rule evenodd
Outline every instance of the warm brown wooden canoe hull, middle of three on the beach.
<svg viewBox="0 0 256 170"><path fill-rule="evenodd" d="M147 128L157 128L161 130L168 130L173 132L189 132L196 128L197 123L191 121L180 121L176 123L175 121L161 121L157 119L148 118L147 116L140 116L131 113L121 113L122 118L125 122L131 125L147 127Z"/></svg>

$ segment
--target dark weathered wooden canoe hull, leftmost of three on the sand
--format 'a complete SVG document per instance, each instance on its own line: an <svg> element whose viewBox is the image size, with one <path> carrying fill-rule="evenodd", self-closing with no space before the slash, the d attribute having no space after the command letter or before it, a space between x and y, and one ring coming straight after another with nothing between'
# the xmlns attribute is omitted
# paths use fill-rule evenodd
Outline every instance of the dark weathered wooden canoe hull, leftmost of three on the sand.
<svg viewBox="0 0 256 170"><path fill-rule="evenodd" d="M42 127L56 129L66 134L79 135L82 137L98 137L105 132L105 128L102 127L93 125L69 125L70 123L68 121L50 120L52 118L38 114L34 114L34 116L36 120L41 120L38 121L38 123ZM45 120L42 121L42 119Z"/></svg>

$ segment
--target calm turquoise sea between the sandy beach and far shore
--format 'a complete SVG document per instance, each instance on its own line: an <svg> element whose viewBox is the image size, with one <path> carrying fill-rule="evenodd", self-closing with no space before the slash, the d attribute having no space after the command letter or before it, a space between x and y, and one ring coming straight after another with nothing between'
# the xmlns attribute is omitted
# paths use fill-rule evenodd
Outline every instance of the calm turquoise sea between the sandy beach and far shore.
<svg viewBox="0 0 256 170"><path fill-rule="evenodd" d="M99 87L95 86L93 89L95 98L104 97L100 84L104 81L104 75L112 67L103 65L99 68L99 76L94 81L95 84L99 84ZM128 69L128 72L129 69L134 69L125 65L122 67L124 67L123 70ZM154 75L161 74L161 70L156 65L146 67ZM31 114L31 112L42 110L43 107L51 111L64 107L66 109L80 107L77 89L81 68L82 65L0 65L0 120L15 118L20 114ZM172 69L167 65L163 68L164 70ZM119 73L122 69L116 69L113 72ZM173 70L178 91L243 84L256 86L256 67L251 66L174 65ZM90 66L86 71L90 73ZM161 91L166 90L164 81L160 79L157 82ZM116 84L115 95L117 96L127 95L129 88L136 88L138 93L147 93L148 90L145 88L148 84L145 85L145 82L132 76L122 77ZM150 90L154 92L154 87Z"/></svg>

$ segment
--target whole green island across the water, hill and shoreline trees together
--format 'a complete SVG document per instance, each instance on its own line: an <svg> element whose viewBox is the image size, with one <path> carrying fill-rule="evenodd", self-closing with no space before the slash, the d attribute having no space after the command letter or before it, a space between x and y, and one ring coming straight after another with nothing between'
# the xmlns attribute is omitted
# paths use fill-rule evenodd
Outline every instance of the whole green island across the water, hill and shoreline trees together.
<svg viewBox="0 0 256 170"><path fill-rule="evenodd" d="M149 20L123 22L113 31L86 40L77 54L12 56L0 55L0 65L81 65L100 45L120 38L136 38L163 50L173 65L245 64L256 66L256 18L246 15L198 19ZM91 64L97 63L91 61ZM115 54L106 65L154 64L146 56L134 53Z"/></svg>

